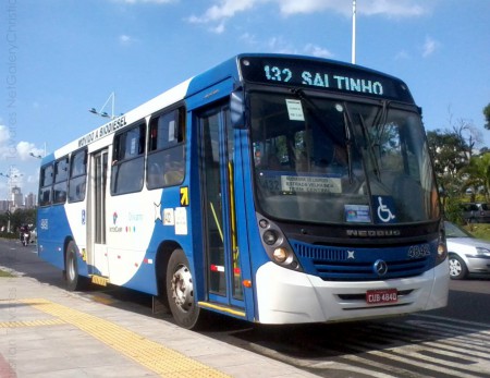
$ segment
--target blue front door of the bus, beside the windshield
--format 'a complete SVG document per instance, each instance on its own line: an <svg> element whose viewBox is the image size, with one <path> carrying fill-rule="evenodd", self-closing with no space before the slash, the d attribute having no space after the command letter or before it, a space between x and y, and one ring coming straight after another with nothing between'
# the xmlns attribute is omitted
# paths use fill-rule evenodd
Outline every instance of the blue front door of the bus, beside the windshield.
<svg viewBox="0 0 490 378"><path fill-rule="evenodd" d="M204 243L210 302L237 308L244 316L240 251L234 198L234 129L226 107L211 109L199 119ZM218 307L219 308L219 307Z"/></svg>

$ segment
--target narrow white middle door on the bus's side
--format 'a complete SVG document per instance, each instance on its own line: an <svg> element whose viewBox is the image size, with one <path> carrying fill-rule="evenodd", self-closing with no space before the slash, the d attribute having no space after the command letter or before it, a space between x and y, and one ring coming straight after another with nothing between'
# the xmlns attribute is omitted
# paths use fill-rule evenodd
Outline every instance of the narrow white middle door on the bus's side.
<svg viewBox="0 0 490 378"><path fill-rule="evenodd" d="M90 156L90 200L88 203L88 264L90 273L109 277L106 245L106 190L108 150L102 149Z"/></svg>

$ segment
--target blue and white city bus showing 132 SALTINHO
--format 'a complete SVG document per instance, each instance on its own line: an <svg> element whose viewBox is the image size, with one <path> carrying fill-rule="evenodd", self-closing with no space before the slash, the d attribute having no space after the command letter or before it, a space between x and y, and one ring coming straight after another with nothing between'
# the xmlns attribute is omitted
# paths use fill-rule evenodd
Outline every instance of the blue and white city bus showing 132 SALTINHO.
<svg viewBox="0 0 490 378"><path fill-rule="evenodd" d="M448 302L421 109L332 60L238 54L79 136L41 160L37 223L69 290L144 292L187 329Z"/></svg>

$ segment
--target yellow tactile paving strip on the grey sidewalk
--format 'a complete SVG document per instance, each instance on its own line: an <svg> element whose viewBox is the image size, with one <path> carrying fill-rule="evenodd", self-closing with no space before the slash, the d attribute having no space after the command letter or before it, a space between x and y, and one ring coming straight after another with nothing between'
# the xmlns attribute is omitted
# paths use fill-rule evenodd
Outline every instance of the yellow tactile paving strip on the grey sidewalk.
<svg viewBox="0 0 490 378"><path fill-rule="evenodd" d="M54 316L56 319L52 320L54 322L70 324L79 328L161 377L229 377L224 373L96 316L44 298L20 300L17 302L28 304L40 312ZM37 320L39 326L46 326L49 321ZM15 324L19 324L17 327L33 327L35 322L15 321ZM0 325L7 325L5 327L10 327L10 324L13 322L0 322Z"/></svg>

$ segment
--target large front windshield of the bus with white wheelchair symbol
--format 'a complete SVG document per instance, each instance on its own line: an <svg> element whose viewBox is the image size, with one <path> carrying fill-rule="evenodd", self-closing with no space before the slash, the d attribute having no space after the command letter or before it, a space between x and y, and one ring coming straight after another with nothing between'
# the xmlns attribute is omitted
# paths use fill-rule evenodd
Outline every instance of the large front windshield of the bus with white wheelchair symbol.
<svg viewBox="0 0 490 378"><path fill-rule="evenodd" d="M439 217L415 107L249 93L260 211L316 223L411 223Z"/></svg>

